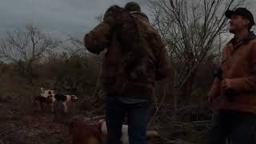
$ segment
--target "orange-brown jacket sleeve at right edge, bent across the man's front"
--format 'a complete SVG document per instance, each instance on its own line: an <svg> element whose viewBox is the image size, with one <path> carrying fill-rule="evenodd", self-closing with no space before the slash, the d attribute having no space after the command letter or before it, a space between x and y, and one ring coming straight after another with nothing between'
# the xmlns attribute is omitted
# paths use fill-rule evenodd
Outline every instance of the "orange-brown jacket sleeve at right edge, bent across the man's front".
<svg viewBox="0 0 256 144"><path fill-rule="evenodd" d="M231 88L241 91L254 91L256 92L256 45L250 50L250 68L251 75L243 78L232 78Z"/></svg>

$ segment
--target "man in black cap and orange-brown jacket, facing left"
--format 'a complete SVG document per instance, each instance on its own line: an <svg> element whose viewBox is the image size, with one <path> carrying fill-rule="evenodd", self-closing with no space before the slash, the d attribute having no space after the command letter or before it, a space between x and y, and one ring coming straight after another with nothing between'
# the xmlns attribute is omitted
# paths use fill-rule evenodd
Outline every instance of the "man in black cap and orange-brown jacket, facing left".
<svg viewBox="0 0 256 144"><path fill-rule="evenodd" d="M215 78L208 102L218 112L206 144L221 144L229 137L233 144L252 144L256 128L256 36L250 32L254 17L246 8L227 10L234 38L222 53L222 77Z"/></svg>

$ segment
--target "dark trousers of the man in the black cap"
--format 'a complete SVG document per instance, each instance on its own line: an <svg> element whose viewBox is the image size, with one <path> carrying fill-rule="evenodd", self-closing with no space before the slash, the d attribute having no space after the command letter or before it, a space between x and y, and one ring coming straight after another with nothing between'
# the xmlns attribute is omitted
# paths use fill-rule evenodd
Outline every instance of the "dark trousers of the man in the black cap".
<svg viewBox="0 0 256 144"><path fill-rule="evenodd" d="M229 138L232 144L253 144L256 114L234 110L218 110L206 137L206 144L224 144Z"/></svg>

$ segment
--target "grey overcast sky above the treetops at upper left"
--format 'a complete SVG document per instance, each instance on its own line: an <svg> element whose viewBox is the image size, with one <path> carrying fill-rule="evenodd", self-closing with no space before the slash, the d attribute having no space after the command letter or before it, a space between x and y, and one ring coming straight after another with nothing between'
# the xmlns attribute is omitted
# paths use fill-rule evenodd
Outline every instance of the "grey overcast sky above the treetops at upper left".
<svg viewBox="0 0 256 144"><path fill-rule="evenodd" d="M146 0L135 0L146 8ZM6 30L34 25L44 32L85 33L97 24L95 17L108 6L124 6L127 0L0 0L0 37Z"/></svg>

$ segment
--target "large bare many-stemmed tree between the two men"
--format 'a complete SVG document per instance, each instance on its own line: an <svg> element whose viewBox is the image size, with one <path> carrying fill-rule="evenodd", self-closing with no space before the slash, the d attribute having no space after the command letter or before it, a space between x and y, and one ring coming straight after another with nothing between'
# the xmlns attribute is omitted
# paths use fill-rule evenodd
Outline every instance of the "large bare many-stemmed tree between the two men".
<svg viewBox="0 0 256 144"><path fill-rule="evenodd" d="M193 90L198 66L218 53L218 36L226 32L224 12L246 0L150 0L154 26L174 59L174 86L185 97Z"/></svg>

